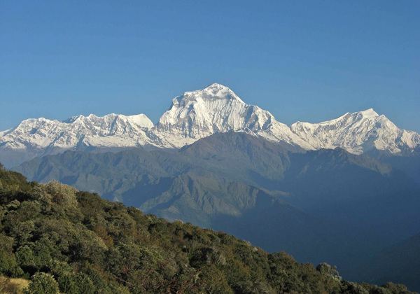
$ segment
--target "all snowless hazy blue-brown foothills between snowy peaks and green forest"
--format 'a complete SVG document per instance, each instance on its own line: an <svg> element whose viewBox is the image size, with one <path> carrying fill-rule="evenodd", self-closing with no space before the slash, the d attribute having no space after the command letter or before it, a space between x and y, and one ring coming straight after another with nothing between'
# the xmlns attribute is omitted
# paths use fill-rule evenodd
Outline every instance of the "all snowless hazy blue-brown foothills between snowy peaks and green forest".
<svg viewBox="0 0 420 294"><path fill-rule="evenodd" d="M342 272L420 230L413 221L420 188L406 174L339 148L293 150L227 132L176 152L66 152L16 170L170 221L225 230L300 261L331 262Z"/></svg>

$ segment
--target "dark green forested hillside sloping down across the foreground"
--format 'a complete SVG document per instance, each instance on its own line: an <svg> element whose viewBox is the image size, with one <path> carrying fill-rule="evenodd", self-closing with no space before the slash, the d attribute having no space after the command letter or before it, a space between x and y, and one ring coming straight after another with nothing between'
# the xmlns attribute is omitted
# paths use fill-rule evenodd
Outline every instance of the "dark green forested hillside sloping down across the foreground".
<svg viewBox="0 0 420 294"><path fill-rule="evenodd" d="M25 293L37 294L410 293L343 281L326 264L299 264L223 232L4 169L0 274L31 279Z"/></svg>

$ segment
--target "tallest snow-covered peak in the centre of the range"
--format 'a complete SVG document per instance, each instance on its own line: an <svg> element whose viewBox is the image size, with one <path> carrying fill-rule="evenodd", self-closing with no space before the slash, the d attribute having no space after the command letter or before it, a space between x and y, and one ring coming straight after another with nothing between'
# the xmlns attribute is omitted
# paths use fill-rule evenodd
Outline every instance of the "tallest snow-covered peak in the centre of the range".
<svg viewBox="0 0 420 294"><path fill-rule="evenodd" d="M178 148L211 134L231 130L311 149L271 113L245 104L232 90L217 83L174 98L171 108L155 127L162 140Z"/></svg>

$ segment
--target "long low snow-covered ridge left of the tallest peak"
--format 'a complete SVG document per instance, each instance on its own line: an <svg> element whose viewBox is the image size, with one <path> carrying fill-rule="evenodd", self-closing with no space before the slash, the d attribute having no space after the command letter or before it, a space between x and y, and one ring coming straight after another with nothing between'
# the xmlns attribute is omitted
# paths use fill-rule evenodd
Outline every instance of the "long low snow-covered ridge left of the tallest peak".
<svg viewBox="0 0 420 294"><path fill-rule="evenodd" d="M62 122L45 118L22 121L13 129L0 132L0 161L18 165L31 158L66 150L155 146L148 130L153 127L144 114L103 117L74 116ZM152 139L151 139L152 138Z"/></svg>

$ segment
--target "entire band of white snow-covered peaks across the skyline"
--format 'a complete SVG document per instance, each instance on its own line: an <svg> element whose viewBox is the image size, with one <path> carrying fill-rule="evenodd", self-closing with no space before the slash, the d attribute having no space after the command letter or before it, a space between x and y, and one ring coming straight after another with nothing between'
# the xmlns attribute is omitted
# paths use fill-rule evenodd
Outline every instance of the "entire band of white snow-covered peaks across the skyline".
<svg viewBox="0 0 420 294"><path fill-rule="evenodd" d="M217 132L246 132L304 150L341 147L351 153L374 150L409 155L419 134L401 130L372 109L323 123L290 127L268 111L244 103L228 87L214 83L172 100L153 125L144 114L75 116L59 122L24 120L0 132L0 162L13 167L32 158L66 150L115 151L120 148L181 148Z"/></svg>

